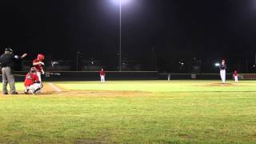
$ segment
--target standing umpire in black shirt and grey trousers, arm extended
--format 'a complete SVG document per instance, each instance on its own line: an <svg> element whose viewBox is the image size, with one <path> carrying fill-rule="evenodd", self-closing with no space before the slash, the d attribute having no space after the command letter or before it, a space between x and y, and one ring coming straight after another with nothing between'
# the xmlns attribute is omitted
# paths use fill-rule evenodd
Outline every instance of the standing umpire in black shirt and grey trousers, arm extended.
<svg viewBox="0 0 256 144"><path fill-rule="evenodd" d="M25 58L27 54L21 57L13 54L10 48L5 49L5 53L0 56L0 63L2 66L2 94L8 94L7 83L10 85L10 94L18 94L15 89L14 79L14 61L19 58Z"/></svg>

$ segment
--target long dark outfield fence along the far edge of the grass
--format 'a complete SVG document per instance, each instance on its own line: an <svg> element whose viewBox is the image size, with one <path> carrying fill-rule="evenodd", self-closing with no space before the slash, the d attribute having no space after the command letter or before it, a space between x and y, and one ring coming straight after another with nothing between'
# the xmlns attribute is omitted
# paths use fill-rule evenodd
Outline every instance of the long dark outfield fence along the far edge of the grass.
<svg viewBox="0 0 256 144"><path fill-rule="evenodd" d="M15 72L17 82L24 81L27 72ZM232 79L226 74L226 79ZM46 72L43 81L98 81L98 71L54 71ZM178 80L178 79L220 79L219 74L159 74L158 71L106 71L106 80ZM256 74L239 74L239 79L256 79Z"/></svg>

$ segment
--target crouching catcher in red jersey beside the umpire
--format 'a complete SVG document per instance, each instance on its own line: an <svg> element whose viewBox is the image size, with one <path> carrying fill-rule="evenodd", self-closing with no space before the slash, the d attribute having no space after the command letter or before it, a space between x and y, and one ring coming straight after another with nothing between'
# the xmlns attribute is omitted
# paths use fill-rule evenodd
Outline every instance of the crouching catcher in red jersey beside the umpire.
<svg viewBox="0 0 256 144"><path fill-rule="evenodd" d="M39 81L37 69L35 67L31 67L30 72L26 74L24 86L25 94L35 94L38 90L42 89L42 83Z"/></svg>

